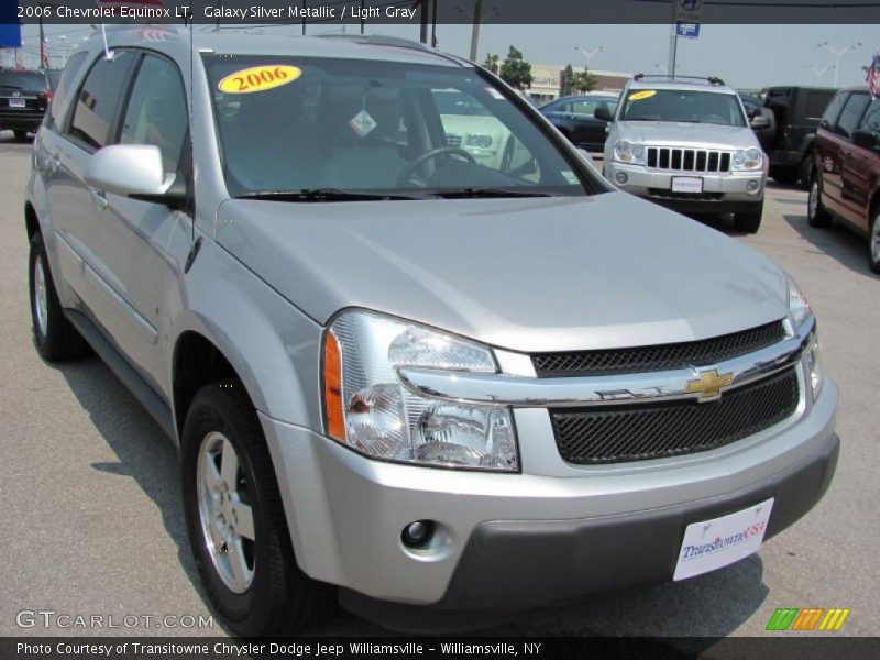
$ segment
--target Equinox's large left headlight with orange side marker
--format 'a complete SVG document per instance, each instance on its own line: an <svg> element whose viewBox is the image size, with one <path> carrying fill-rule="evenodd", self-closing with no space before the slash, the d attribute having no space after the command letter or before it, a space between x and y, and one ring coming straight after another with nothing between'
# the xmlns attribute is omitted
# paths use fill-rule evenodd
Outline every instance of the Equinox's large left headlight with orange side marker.
<svg viewBox="0 0 880 660"><path fill-rule="evenodd" d="M327 432L367 457L443 468L516 472L508 408L417 396L397 367L495 373L488 348L367 311L340 315L324 337Z"/></svg>

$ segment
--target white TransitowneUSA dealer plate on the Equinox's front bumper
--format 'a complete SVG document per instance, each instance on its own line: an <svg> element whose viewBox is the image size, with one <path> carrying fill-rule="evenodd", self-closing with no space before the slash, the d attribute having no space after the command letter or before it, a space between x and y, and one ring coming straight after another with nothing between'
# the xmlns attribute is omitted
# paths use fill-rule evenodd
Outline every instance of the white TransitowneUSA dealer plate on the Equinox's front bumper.
<svg viewBox="0 0 880 660"><path fill-rule="evenodd" d="M736 514L689 525L672 579L702 575L757 552L771 510L772 497Z"/></svg>

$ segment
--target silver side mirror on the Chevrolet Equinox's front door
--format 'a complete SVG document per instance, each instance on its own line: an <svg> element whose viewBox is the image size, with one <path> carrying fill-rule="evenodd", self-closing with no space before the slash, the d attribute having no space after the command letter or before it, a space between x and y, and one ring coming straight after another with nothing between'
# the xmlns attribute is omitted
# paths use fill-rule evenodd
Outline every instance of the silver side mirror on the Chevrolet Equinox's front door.
<svg viewBox="0 0 880 660"><path fill-rule="evenodd" d="M162 151L151 144L113 144L97 151L85 173L94 188L123 197L179 209L186 205L185 186L166 175Z"/></svg>

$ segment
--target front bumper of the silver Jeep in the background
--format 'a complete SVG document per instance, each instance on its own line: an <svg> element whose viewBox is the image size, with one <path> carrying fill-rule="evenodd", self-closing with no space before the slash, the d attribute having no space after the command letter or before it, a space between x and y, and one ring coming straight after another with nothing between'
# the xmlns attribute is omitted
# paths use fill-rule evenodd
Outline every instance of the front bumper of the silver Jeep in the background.
<svg viewBox="0 0 880 660"><path fill-rule="evenodd" d="M767 169L756 172L701 173L649 169L642 165L630 165L616 161L604 164L605 178L615 186L638 197L663 205L674 210L695 213L744 213L757 211L763 204ZM626 175L626 183L618 180L618 173ZM686 176L703 179L702 194L672 193L672 177ZM758 188L749 193L749 182Z"/></svg>

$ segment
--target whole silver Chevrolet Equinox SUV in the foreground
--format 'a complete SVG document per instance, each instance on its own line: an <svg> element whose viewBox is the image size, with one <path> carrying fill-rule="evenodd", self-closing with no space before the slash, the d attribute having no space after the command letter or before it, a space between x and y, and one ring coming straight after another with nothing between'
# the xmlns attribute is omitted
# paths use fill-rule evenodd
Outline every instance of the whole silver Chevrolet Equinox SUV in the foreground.
<svg viewBox="0 0 880 660"><path fill-rule="evenodd" d="M838 394L794 282L614 189L492 74L108 33L34 144L34 341L89 344L174 439L235 631L682 580L825 493Z"/></svg>

